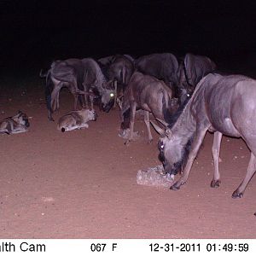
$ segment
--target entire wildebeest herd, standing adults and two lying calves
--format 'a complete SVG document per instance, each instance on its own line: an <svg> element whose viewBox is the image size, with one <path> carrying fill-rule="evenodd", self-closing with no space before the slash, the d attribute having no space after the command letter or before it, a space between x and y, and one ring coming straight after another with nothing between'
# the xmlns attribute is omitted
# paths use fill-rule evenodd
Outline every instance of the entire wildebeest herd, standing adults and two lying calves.
<svg viewBox="0 0 256 256"><path fill-rule="evenodd" d="M219 149L223 134L242 137L251 151L246 177L233 193L243 195L256 171L256 81L243 75L227 75L207 56L188 53L180 59L171 53L111 55L53 61L47 72L45 96L48 118L59 108L62 87L72 93L74 110L58 121L58 130L88 127L96 120L94 104L109 112L120 110L120 132L128 131L125 144L131 143L137 110L143 110L148 142L153 137L150 123L160 134L159 159L164 171L181 174L171 189L187 182L196 154L207 131L214 133L212 156L214 172L211 186L220 185ZM79 104L81 109L78 110ZM154 117L150 121L149 113ZM0 132L17 133L29 126L25 113L4 119Z"/></svg>

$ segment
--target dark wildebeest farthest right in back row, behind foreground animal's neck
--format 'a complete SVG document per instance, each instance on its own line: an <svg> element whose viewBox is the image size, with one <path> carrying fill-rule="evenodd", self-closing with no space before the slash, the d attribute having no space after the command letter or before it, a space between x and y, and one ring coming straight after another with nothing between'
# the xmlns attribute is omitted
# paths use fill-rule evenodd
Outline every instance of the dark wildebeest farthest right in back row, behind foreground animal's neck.
<svg viewBox="0 0 256 256"><path fill-rule="evenodd" d="M215 70L216 64L207 56L188 53L178 67L178 87L180 90L184 90L183 95L192 94L195 85L208 73Z"/></svg>

